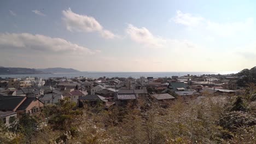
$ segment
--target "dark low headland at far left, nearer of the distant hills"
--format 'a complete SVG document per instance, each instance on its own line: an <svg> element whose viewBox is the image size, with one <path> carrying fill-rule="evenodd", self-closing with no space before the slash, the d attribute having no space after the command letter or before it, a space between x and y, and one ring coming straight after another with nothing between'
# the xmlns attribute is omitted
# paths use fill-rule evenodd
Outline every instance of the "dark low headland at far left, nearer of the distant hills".
<svg viewBox="0 0 256 144"><path fill-rule="evenodd" d="M0 75L12 75L12 74L46 74L46 73L40 70L30 69L30 68L0 67Z"/></svg>

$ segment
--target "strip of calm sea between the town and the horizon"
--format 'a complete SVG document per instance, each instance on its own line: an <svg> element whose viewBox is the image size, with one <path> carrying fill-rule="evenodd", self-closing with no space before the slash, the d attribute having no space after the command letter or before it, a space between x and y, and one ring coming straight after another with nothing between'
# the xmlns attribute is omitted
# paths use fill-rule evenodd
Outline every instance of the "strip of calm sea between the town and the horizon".
<svg viewBox="0 0 256 144"><path fill-rule="evenodd" d="M23 78L23 77L39 77L42 79L48 79L49 77L67 77L74 78L79 76L84 76L92 79L97 79L98 77L106 76L108 78L112 77L133 77L138 79L141 76L144 77L171 77L171 76L184 76L184 75L203 75L203 74L235 74L238 71L222 71L222 72L82 72L82 73L55 73L55 74L24 74L24 75L0 75L0 77L11 77L11 78Z"/></svg>

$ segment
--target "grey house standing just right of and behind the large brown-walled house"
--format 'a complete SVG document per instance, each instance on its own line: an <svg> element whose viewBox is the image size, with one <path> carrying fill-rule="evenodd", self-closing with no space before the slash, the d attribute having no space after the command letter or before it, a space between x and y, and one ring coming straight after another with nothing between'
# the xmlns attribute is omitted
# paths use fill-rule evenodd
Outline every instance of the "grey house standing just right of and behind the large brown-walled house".
<svg viewBox="0 0 256 144"><path fill-rule="evenodd" d="M42 98L39 98L39 100L46 105L59 103L63 98L62 92L54 90L53 93L45 94Z"/></svg>

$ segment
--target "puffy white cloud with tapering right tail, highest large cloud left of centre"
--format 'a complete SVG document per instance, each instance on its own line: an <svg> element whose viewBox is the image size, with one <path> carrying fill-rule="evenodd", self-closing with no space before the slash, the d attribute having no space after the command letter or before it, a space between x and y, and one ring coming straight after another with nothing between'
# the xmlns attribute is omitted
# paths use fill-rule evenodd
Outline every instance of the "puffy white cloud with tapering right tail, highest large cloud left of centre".
<svg viewBox="0 0 256 144"><path fill-rule="evenodd" d="M101 37L106 39L117 38L118 36L112 32L104 29L101 24L94 19L94 17L87 15L79 15L73 13L69 8L62 10L63 21L66 24L66 28L71 32L98 32Z"/></svg>

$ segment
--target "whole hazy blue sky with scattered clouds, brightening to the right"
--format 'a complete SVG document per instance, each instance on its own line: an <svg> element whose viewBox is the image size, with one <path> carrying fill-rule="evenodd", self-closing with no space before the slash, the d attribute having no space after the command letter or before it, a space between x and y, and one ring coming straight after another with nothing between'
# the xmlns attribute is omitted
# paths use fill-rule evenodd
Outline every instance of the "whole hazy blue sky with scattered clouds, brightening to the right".
<svg viewBox="0 0 256 144"><path fill-rule="evenodd" d="M0 66L240 71L256 66L255 1L0 1Z"/></svg>

